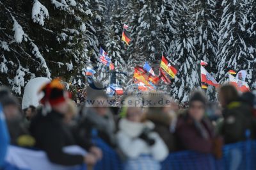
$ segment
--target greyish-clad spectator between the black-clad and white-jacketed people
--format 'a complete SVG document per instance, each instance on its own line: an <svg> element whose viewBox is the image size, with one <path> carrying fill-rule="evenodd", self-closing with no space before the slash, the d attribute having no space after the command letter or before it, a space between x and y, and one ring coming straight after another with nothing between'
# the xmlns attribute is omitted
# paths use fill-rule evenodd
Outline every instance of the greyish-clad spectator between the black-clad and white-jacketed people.
<svg viewBox="0 0 256 170"><path fill-rule="evenodd" d="M86 107L81 107L82 118L77 133L83 138L92 139L97 135L110 146L115 147L115 120L108 107L108 98L104 91L89 91Z"/></svg>

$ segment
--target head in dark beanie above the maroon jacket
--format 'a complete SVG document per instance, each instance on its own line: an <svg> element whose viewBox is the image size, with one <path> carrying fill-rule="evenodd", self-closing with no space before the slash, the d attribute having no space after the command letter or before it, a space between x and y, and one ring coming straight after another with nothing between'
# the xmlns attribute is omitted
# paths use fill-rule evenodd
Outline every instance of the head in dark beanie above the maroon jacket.
<svg viewBox="0 0 256 170"><path fill-rule="evenodd" d="M189 99L189 116L198 121L202 120L205 114L206 103L207 99L205 98L204 93L195 91Z"/></svg>

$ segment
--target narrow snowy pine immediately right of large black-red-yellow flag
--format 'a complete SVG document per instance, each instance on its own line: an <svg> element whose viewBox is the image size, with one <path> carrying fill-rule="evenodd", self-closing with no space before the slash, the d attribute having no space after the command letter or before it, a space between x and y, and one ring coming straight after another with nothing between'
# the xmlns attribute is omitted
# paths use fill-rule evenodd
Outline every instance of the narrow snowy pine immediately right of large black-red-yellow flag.
<svg viewBox="0 0 256 170"><path fill-rule="evenodd" d="M180 102L188 102L190 91L200 85L199 61L194 43L194 25L187 1L180 1L177 8L178 33L175 35L174 63L179 65L177 79L172 84L172 96Z"/></svg>

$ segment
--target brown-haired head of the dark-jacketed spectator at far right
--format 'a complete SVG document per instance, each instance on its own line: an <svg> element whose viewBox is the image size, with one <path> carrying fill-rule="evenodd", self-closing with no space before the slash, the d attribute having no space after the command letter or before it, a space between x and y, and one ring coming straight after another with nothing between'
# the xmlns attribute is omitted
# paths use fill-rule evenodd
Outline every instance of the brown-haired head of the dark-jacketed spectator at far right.
<svg viewBox="0 0 256 170"><path fill-rule="evenodd" d="M230 84L221 86L218 97L222 107L225 107L231 102L239 100L239 94L237 89Z"/></svg>

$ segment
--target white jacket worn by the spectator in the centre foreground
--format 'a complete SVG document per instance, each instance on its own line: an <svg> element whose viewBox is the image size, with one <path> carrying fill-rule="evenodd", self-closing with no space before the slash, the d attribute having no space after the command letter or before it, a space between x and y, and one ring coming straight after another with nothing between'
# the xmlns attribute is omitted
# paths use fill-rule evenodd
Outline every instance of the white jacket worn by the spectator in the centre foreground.
<svg viewBox="0 0 256 170"><path fill-rule="evenodd" d="M120 130L116 134L117 144L120 150L128 158L138 158L140 155L151 155L157 161L163 161L168 156L168 148L156 132L150 132L149 136L155 139L155 144L149 146L139 136L143 129L154 128L151 121L136 123L127 119L120 120Z"/></svg>

